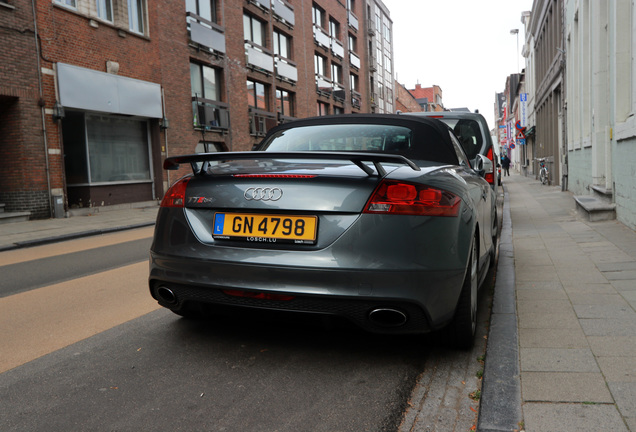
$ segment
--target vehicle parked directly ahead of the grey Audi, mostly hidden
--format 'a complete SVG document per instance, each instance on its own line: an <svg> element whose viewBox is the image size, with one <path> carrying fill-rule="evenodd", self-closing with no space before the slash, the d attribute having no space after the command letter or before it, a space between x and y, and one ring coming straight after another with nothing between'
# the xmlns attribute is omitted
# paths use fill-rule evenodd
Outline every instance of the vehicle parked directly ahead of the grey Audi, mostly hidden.
<svg viewBox="0 0 636 432"><path fill-rule="evenodd" d="M404 114L431 117L443 121L453 129L471 161L474 161L478 154L486 156L490 163L486 163L484 166L485 179L497 196L497 186L501 185L501 181L496 178L497 156L488 122L483 115L469 111L429 111Z"/></svg>

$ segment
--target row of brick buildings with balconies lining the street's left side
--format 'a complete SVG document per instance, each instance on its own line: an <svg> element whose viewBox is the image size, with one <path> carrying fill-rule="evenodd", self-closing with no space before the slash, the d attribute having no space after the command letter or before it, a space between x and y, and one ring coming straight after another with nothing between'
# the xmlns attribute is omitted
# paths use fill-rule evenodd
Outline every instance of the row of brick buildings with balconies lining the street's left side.
<svg viewBox="0 0 636 432"><path fill-rule="evenodd" d="M51 197L160 199L186 172L166 157L250 150L294 118L394 109L380 0L0 4L0 203L32 218L53 216Z"/></svg>

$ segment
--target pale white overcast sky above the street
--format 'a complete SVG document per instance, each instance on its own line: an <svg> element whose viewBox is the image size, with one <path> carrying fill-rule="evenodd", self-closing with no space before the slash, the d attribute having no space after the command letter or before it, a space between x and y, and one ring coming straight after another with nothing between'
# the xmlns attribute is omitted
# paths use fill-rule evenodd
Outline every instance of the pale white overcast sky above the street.
<svg viewBox="0 0 636 432"><path fill-rule="evenodd" d="M393 21L397 81L407 89L440 86L446 108L478 109L492 129L495 93L524 68L521 13L532 0L382 2ZM519 29L518 49L512 29Z"/></svg>

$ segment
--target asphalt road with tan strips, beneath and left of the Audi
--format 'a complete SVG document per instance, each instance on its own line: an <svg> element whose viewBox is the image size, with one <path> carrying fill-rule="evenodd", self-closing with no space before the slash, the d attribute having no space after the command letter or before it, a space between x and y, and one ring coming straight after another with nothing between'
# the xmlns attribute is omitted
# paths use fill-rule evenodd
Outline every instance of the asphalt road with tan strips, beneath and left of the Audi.
<svg viewBox="0 0 636 432"><path fill-rule="evenodd" d="M147 232L0 254L0 430L397 431L418 377L474 374L435 338L158 309Z"/></svg>

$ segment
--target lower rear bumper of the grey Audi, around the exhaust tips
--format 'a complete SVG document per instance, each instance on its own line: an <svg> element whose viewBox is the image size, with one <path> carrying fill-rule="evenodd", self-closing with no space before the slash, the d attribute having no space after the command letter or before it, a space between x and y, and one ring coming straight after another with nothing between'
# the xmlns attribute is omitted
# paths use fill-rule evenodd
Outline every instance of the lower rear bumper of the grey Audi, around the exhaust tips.
<svg viewBox="0 0 636 432"><path fill-rule="evenodd" d="M463 269L326 270L182 260L151 253L149 285L160 305L177 312L196 303L338 316L375 333L425 333L452 319L463 277ZM169 289L174 298L166 299L160 288ZM285 294L293 299L239 297L226 290ZM371 316L380 309L403 314L405 322L377 322Z"/></svg>

